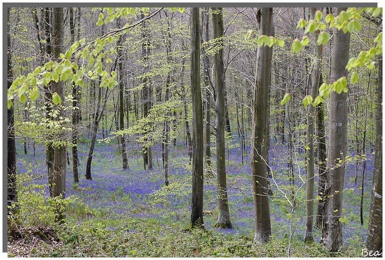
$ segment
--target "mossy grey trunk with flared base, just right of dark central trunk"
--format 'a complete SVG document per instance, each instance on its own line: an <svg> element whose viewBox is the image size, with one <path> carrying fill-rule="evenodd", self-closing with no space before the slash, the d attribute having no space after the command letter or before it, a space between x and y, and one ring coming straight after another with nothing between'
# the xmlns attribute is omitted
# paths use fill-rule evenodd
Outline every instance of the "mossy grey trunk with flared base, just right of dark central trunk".
<svg viewBox="0 0 385 260"><path fill-rule="evenodd" d="M232 228L227 201L226 155L224 146L224 71L223 71L223 13L222 8L212 8L214 39L219 39L218 51L214 54L215 65L215 141L218 217L214 227Z"/></svg>

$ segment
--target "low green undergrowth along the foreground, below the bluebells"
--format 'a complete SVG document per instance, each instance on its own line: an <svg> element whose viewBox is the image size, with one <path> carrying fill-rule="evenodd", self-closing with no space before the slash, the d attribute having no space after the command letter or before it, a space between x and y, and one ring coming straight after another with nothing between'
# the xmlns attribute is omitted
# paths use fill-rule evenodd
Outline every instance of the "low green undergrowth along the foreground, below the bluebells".
<svg viewBox="0 0 385 260"><path fill-rule="evenodd" d="M161 223L155 218L125 221L89 219L66 223L57 229L59 247L39 247L33 256L49 257L285 257L288 239L274 238L264 245L252 241L252 234L224 234L216 229L184 231L179 222ZM291 244L293 257L359 256L352 248L330 253L318 243Z"/></svg>

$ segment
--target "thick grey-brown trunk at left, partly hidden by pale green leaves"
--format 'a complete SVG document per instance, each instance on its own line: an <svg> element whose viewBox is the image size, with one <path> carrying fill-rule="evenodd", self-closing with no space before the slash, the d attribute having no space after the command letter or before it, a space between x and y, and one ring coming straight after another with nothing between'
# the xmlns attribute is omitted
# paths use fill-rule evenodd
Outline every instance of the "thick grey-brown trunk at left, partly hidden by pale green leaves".
<svg viewBox="0 0 385 260"><path fill-rule="evenodd" d="M64 37L64 24L63 24L63 7L53 8L53 34L52 34L52 57L58 58L59 54L63 52L63 37ZM64 89L62 82L52 82L52 92L56 92L61 100L64 100ZM63 103L54 105L52 109L59 110L59 116L56 120L60 120L60 117L64 117ZM59 121L59 124L62 122ZM65 198L65 173L66 173L66 139L64 132L55 132L55 139L58 141L54 143L54 155L53 155L53 172L52 172L52 197ZM62 205L57 205L57 215L55 220L62 223L65 218Z"/></svg>

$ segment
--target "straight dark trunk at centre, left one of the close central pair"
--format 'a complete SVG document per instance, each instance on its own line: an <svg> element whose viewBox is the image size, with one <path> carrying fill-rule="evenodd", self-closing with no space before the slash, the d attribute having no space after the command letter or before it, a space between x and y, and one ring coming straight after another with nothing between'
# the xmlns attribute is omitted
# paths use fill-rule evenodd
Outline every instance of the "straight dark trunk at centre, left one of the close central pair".
<svg viewBox="0 0 385 260"><path fill-rule="evenodd" d="M192 100L192 187L190 227L203 226L203 121L200 93L199 7L190 9L190 81Z"/></svg>

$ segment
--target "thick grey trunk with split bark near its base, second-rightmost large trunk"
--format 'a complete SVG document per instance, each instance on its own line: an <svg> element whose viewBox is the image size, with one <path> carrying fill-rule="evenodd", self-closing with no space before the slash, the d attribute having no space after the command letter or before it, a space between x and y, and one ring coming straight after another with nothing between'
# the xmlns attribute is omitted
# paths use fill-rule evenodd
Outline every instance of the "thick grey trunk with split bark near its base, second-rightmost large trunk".
<svg viewBox="0 0 385 260"><path fill-rule="evenodd" d="M337 8L337 13L346 8ZM331 81L347 76L345 68L349 58L350 33L333 29ZM338 251L342 245L342 191L345 166L339 160L346 156L347 141L347 94L330 94L329 139L327 148L327 176L325 208L322 226L322 242L330 251Z"/></svg>

